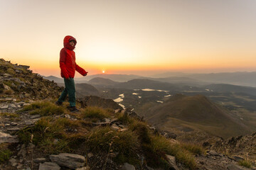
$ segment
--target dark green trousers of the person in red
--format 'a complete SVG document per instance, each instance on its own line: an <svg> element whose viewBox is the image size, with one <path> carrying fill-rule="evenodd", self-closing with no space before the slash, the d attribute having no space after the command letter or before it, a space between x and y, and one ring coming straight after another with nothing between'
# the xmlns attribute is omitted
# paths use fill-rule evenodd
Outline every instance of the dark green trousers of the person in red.
<svg viewBox="0 0 256 170"><path fill-rule="evenodd" d="M60 98L58 98L59 102L65 101L65 98L68 95L68 102L70 103L70 107L75 106L75 81L73 78L65 79L65 89L63 90Z"/></svg>

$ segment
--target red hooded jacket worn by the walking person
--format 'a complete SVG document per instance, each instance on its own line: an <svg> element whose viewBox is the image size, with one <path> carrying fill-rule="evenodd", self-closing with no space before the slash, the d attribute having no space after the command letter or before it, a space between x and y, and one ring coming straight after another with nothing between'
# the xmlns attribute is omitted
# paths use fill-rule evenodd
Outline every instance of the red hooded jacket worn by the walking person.
<svg viewBox="0 0 256 170"><path fill-rule="evenodd" d="M75 41L75 45L77 41L70 35L65 36L63 43L64 47L60 50L60 71L61 77L63 78L74 78L75 70L78 71L83 76L87 74L85 69L82 69L75 63L75 52L73 51L75 47L72 47L69 42L71 40Z"/></svg>

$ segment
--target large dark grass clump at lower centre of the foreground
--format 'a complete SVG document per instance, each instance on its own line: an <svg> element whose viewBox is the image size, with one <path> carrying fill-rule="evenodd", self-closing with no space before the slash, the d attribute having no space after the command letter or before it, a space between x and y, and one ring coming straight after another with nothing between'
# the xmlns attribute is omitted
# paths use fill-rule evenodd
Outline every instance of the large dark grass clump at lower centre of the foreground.
<svg viewBox="0 0 256 170"><path fill-rule="evenodd" d="M94 128L86 135L85 146L93 152L118 153L114 158L115 162L123 164L139 164L137 152L139 150L139 140L137 135L131 130L118 132L110 127Z"/></svg>

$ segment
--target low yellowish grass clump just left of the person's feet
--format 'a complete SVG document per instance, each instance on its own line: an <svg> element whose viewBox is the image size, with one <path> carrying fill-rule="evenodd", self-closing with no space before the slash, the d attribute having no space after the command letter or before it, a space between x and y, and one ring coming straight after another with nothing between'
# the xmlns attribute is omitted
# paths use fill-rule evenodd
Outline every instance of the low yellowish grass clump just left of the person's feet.
<svg viewBox="0 0 256 170"><path fill-rule="evenodd" d="M20 112L28 111L31 115L61 115L64 113L64 108L56 106L48 101L38 101L31 105L25 106Z"/></svg>

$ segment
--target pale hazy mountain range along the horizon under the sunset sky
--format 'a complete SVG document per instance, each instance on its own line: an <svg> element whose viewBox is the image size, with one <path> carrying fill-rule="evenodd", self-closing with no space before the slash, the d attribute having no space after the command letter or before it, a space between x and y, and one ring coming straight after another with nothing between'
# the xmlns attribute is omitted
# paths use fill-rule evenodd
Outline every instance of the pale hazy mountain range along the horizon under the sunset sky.
<svg viewBox="0 0 256 170"><path fill-rule="evenodd" d="M167 72L156 74L151 77L142 77L134 74L94 74L87 77L76 78L77 83L87 83L91 79L101 77L112 81L124 82L132 79L152 79L156 81L169 82L172 84L186 84L190 86L200 86L206 84L233 84L239 86L256 87L256 72L223 72L210 74L186 74L181 72ZM63 82L58 77L44 77L57 83Z"/></svg>

